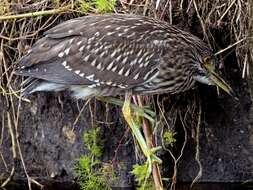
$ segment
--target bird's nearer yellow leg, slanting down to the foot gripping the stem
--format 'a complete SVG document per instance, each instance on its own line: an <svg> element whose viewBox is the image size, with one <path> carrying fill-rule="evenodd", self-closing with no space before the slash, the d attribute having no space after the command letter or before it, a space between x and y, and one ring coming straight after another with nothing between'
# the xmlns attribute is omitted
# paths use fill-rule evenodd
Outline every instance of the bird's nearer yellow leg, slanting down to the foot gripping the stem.
<svg viewBox="0 0 253 190"><path fill-rule="evenodd" d="M141 147L143 154L147 158L148 167L149 167L148 172L150 174L152 171L152 163L153 162L161 163L161 160L155 155L155 152L160 148L159 147L149 148L147 146L146 141L140 131L140 128L133 118L130 105L131 105L131 95L127 93L125 97L125 102L122 107L122 112L123 112L125 120L127 121L129 127L132 130L134 137L136 138L139 146Z"/></svg>

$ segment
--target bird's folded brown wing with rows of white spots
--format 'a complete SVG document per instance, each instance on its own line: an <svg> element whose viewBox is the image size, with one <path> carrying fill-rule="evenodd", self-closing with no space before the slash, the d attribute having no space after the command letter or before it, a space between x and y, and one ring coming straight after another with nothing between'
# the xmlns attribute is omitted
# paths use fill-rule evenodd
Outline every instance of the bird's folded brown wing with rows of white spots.
<svg viewBox="0 0 253 190"><path fill-rule="evenodd" d="M69 85L138 86L158 72L164 53L152 40L166 36L150 36L153 27L158 26L145 17L122 15L66 21L34 44L16 73Z"/></svg>

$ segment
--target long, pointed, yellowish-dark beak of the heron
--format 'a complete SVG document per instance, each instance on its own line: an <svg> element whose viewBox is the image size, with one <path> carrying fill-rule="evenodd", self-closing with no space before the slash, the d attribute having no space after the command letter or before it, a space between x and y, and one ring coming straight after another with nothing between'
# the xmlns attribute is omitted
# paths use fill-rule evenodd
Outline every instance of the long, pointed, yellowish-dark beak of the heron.
<svg viewBox="0 0 253 190"><path fill-rule="evenodd" d="M225 92L227 92L231 96L235 96L233 89L230 87L228 83L225 82L215 71L212 66L206 65L206 69L208 70L209 76L208 79L217 87L221 88Z"/></svg>

